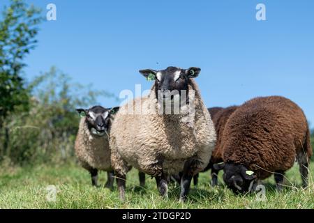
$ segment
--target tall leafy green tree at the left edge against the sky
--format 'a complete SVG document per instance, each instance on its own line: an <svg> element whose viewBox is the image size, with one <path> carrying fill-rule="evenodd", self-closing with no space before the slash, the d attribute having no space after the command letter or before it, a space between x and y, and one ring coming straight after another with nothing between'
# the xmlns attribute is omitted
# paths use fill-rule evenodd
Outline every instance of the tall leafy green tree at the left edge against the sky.
<svg viewBox="0 0 314 223"><path fill-rule="evenodd" d="M11 0L0 20L0 129L11 112L27 110L29 91L22 78L23 59L36 46L40 10Z"/></svg>

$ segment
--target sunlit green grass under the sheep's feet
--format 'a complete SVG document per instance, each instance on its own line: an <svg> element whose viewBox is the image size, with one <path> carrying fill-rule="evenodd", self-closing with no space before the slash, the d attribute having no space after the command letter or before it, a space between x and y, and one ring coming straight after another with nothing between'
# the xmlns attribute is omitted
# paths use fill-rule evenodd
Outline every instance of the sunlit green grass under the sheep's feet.
<svg viewBox="0 0 314 223"><path fill-rule="evenodd" d="M260 194L235 196L225 188L220 173L218 187L209 185L209 172L200 174L199 186L191 186L188 201L179 203L179 187L169 186L169 199L158 195L154 179L147 176L147 185L139 186L137 171L128 174L126 201L119 201L117 187L91 187L87 171L76 164L63 166L3 167L0 170L0 208L314 208L313 170L310 186L301 188L297 165L287 171L287 187L278 193L273 177L264 181L266 200ZM100 173L99 183L106 174ZM47 186L57 187L56 201L47 201ZM48 194L49 195L49 194Z"/></svg>

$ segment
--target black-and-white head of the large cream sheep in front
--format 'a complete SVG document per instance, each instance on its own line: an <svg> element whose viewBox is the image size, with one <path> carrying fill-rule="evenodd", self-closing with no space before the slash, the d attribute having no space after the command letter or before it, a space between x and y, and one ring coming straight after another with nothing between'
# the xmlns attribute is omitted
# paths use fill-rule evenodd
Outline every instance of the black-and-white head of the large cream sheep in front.
<svg viewBox="0 0 314 223"><path fill-rule="evenodd" d="M147 78L155 79L156 98L158 102L165 103L166 100L174 102L181 101L182 94L188 101L188 80L200 74L200 68L181 69L168 67L165 70L140 70Z"/></svg>

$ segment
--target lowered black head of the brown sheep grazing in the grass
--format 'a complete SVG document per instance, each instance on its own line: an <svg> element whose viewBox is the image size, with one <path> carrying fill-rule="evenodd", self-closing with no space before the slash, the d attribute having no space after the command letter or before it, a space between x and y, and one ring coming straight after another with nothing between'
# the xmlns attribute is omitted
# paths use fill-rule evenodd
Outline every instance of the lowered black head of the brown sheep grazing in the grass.
<svg viewBox="0 0 314 223"><path fill-rule="evenodd" d="M255 175L253 171L248 171L243 165L228 162L220 165L215 164L214 169L224 169L223 180L235 194L251 191Z"/></svg>

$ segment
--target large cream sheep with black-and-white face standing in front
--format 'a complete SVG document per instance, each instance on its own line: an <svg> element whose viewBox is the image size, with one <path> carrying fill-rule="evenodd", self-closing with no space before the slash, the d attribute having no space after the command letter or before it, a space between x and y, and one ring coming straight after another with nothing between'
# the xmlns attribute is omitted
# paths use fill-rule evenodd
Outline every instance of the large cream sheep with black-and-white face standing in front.
<svg viewBox="0 0 314 223"><path fill-rule="evenodd" d="M120 199L125 197L127 165L130 164L155 177L163 197L167 197L170 176L183 171L180 201L185 201L190 180L207 167L216 142L214 124L193 80L200 68L168 67L158 71L140 70L140 73L154 79L151 92L121 107L110 137L111 161L117 174ZM186 103L180 104L179 114L167 114L167 108L161 109L166 105L165 100L172 106L181 100ZM138 105L142 114L130 113L129 108L134 113ZM184 112L193 107L195 112ZM158 113L154 112L156 110Z"/></svg>

